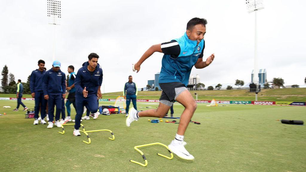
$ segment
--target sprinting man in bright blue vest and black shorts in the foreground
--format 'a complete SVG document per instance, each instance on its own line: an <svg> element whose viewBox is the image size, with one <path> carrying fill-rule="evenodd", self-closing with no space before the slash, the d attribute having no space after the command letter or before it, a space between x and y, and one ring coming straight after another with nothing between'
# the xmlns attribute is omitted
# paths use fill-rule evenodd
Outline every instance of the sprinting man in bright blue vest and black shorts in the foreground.
<svg viewBox="0 0 306 172"><path fill-rule="evenodd" d="M162 95L159 99L159 107L145 111L137 111L134 108L129 110L126 118L126 126L140 117L162 118L169 111L170 107L177 101L181 103L183 111L175 139L169 144L169 149L182 159L192 160L194 157L185 149L187 144L184 141L184 134L196 110L196 102L187 90L188 79L193 66L202 69L211 64L215 55L211 54L206 61L203 61L203 50L205 47L204 34L206 33L205 19L193 18L187 23L185 34L170 42L151 46L133 65L133 70L139 72L140 65L154 52L163 53L162 68L159 75L159 86Z"/></svg>

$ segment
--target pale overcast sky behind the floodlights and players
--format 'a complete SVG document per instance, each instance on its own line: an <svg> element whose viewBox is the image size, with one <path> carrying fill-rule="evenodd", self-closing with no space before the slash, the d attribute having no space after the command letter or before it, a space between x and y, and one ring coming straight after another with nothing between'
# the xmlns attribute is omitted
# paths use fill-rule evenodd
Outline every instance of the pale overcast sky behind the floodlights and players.
<svg viewBox="0 0 306 172"><path fill-rule="evenodd" d="M162 53L155 53L132 72L132 63L151 46L181 37L193 17L207 19L204 69L192 69L207 86L251 81L254 66L254 13L245 0L79 1L62 0L61 25L55 26L55 59L62 71L79 69L95 52L103 69L105 92L123 90L128 76L139 88L160 72ZM306 1L266 0L258 17L259 69L267 79L282 77L285 85L303 84L306 77ZM16 80L26 81L37 61L52 66L53 25L47 0L9 0L0 6L0 67L7 65Z"/></svg>

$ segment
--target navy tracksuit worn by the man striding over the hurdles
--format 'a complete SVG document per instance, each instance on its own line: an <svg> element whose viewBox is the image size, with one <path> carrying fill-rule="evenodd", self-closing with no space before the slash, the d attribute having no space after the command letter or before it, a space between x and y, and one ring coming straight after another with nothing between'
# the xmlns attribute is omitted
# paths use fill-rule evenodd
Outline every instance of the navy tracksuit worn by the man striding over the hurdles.
<svg viewBox="0 0 306 172"><path fill-rule="evenodd" d="M74 82L74 87L76 88L76 118L75 118L75 129L80 128L80 121L83 114L83 107L86 105L91 113L98 111L99 103L97 102L97 93L99 86L102 85L103 72L100 65L97 64L95 70L90 72L87 69L88 62L83 63L76 73L76 79ZM86 87L88 91L88 96L85 98L83 96L83 90Z"/></svg>

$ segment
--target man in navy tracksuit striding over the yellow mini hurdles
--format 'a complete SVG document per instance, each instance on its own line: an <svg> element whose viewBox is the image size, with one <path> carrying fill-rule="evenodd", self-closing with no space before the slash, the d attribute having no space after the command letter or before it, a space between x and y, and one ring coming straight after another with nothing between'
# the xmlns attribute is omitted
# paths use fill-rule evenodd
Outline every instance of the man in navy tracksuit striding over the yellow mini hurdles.
<svg viewBox="0 0 306 172"><path fill-rule="evenodd" d="M88 55L88 62L83 63L77 74L74 82L76 88L76 118L74 125L74 136L80 136L80 123L84 106L88 108L91 113L94 113L94 119L99 116L99 103L97 101L97 95L102 98L101 85L103 80L103 72L98 63L99 56L95 53ZM87 110L87 111L88 111Z"/></svg>

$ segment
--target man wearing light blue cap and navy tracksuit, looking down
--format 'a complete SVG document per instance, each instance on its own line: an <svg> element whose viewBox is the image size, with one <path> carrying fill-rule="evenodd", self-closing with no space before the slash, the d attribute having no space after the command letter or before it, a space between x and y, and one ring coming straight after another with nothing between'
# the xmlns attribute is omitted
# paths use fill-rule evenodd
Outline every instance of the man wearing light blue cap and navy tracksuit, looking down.
<svg viewBox="0 0 306 172"><path fill-rule="evenodd" d="M55 60L52 64L52 68L46 71L45 75L43 76L43 94L44 98L48 101L48 129L53 128L54 105L56 106L54 124L57 127L61 127L59 119L63 106L62 99L65 99L66 75L60 68L61 63Z"/></svg>

